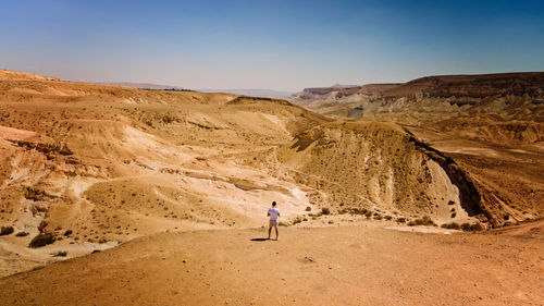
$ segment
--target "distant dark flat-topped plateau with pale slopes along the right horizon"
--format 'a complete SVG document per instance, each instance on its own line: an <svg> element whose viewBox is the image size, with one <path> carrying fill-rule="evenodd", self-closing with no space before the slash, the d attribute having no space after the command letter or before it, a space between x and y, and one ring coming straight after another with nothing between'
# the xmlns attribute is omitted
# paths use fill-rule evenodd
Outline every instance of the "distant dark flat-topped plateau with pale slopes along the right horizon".
<svg viewBox="0 0 544 306"><path fill-rule="evenodd" d="M307 88L290 100L320 113L350 118L396 113L424 120L434 113L492 113L542 122L544 72L441 75L404 84Z"/></svg>

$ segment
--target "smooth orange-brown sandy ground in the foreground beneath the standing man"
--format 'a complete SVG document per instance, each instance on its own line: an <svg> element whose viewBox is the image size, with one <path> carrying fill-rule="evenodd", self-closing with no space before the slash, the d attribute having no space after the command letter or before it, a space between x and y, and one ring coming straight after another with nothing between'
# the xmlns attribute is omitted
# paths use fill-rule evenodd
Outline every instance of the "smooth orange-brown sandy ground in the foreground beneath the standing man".
<svg viewBox="0 0 544 306"><path fill-rule="evenodd" d="M542 305L544 238L523 225L163 233L0 280L3 305ZM534 227L534 225L533 225ZM517 232L516 232L517 231ZM4 304L5 303L5 304Z"/></svg>

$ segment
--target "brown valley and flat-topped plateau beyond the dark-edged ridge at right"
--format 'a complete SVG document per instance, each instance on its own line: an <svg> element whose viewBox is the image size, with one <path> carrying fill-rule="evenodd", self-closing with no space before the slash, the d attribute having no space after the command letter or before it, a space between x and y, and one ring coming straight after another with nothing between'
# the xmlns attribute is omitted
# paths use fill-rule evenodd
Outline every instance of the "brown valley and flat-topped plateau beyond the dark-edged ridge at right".
<svg viewBox="0 0 544 306"><path fill-rule="evenodd" d="M544 73L429 76L384 87L350 95L305 90L292 101L338 120L403 126L454 161L477 189L490 191L481 197L500 209L483 210L508 211L500 224L542 216Z"/></svg>

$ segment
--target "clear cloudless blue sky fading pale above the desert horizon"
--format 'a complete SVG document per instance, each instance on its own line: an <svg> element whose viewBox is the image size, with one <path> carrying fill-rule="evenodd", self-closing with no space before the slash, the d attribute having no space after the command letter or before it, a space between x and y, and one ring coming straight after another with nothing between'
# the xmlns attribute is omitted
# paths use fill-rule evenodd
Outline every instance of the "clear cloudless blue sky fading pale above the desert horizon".
<svg viewBox="0 0 544 306"><path fill-rule="evenodd" d="M544 1L2 0L0 68L186 88L544 71Z"/></svg>

